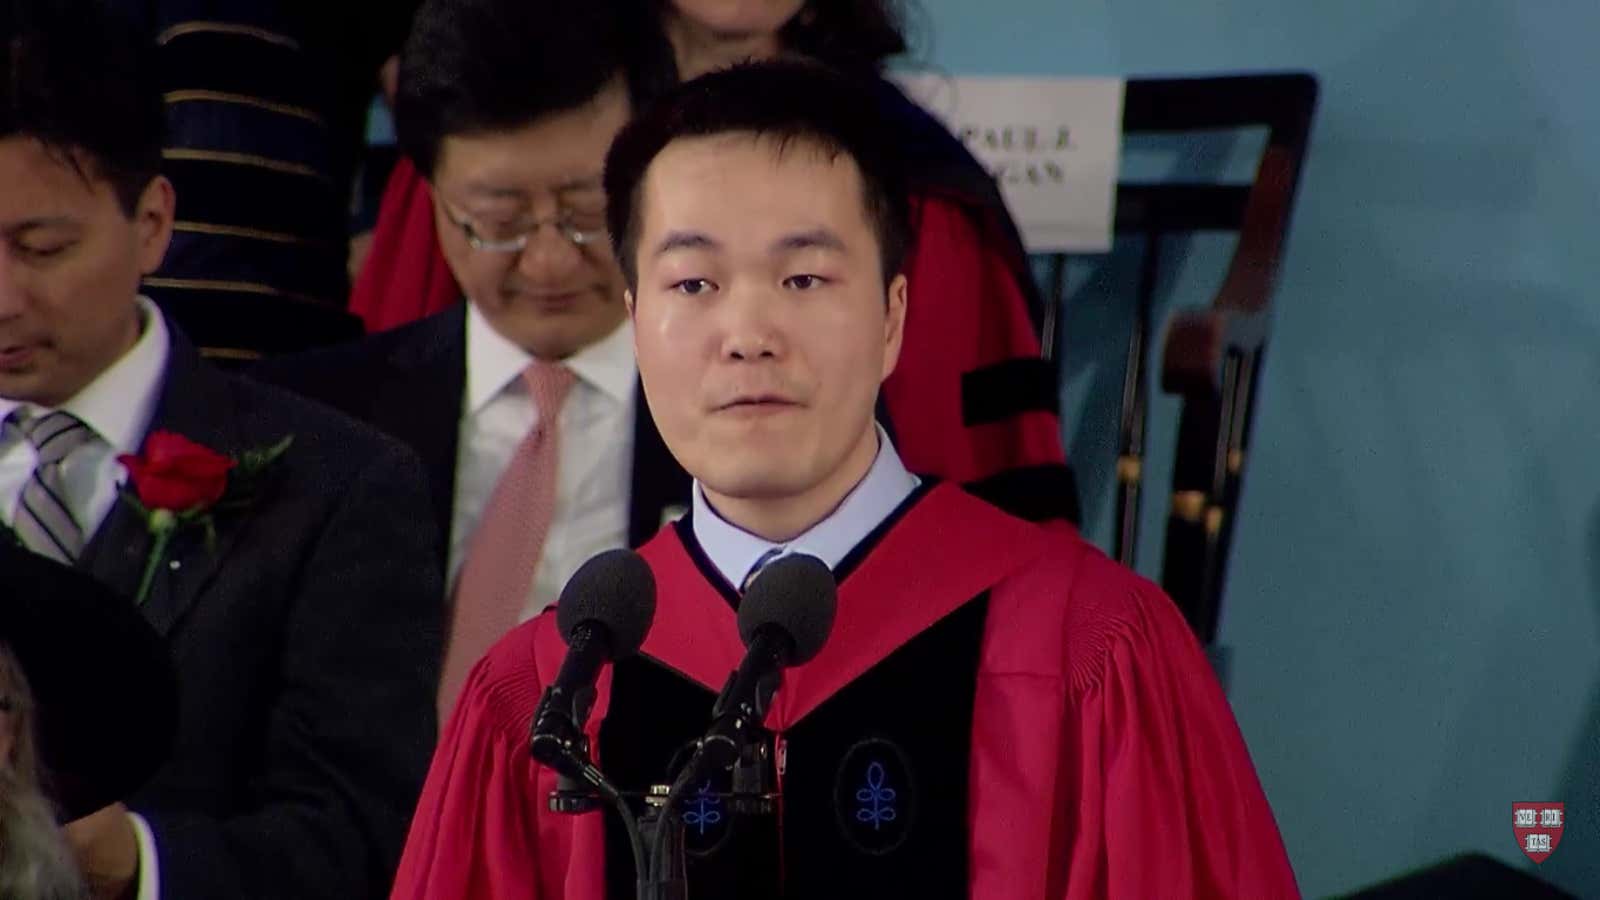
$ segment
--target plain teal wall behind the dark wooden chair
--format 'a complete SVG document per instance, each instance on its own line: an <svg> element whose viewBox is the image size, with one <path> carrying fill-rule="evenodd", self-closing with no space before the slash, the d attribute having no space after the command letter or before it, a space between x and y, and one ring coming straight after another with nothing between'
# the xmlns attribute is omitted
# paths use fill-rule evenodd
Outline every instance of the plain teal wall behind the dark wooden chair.
<svg viewBox="0 0 1600 900"><path fill-rule="evenodd" d="M912 24L952 74L1318 75L1226 597L1230 698L1307 895L1469 849L1533 870L1510 804L1565 801L1539 874L1600 897L1600 5L920 0ZM1248 173L1258 146L1130 167ZM1210 301L1229 250L1187 247L1166 311ZM1064 320L1102 546L1130 259L1080 263Z"/></svg>

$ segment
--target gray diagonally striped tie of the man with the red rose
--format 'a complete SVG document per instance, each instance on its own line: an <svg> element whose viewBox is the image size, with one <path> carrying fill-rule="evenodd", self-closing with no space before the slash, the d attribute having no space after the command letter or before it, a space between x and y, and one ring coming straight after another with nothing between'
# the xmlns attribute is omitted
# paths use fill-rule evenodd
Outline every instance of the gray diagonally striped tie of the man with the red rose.
<svg viewBox="0 0 1600 900"><path fill-rule="evenodd" d="M72 413L59 410L34 416L19 408L5 424L6 431L21 431L38 456L34 476L22 485L16 506L16 536L34 552L58 562L77 562L83 552L83 527L67 506L61 463L78 447L94 440L94 431Z"/></svg>

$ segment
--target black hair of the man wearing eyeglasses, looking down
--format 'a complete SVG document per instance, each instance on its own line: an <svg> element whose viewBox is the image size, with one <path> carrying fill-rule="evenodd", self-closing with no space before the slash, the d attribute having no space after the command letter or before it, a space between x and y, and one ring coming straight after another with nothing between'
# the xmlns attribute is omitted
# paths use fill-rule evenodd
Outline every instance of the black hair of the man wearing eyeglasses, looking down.
<svg viewBox="0 0 1600 900"><path fill-rule="evenodd" d="M448 136L582 107L630 74L638 29L624 24L611 2L427 0L400 51L400 149L432 178Z"/></svg>

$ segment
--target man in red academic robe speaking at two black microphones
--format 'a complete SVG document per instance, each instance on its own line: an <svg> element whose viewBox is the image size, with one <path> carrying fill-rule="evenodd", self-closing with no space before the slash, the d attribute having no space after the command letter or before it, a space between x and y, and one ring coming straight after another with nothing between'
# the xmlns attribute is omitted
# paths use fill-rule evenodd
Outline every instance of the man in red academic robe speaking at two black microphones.
<svg viewBox="0 0 1600 900"><path fill-rule="evenodd" d="M765 722L778 812L691 796L691 897L1296 897L1173 604L1070 530L918 479L874 421L906 219L858 96L803 64L731 69L608 155L640 375L694 506L642 551L659 605L600 677L597 764L627 793L672 781L742 657L738 586L810 554L838 610ZM397 898L634 895L618 820L550 812L528 753L563 653L544 615L474 669Z"/></svg>

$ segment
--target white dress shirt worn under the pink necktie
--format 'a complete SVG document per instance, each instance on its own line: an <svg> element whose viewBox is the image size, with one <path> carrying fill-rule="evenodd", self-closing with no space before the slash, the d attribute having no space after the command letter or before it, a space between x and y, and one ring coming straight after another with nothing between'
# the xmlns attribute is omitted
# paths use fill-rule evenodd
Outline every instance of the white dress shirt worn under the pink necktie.
<svg viewBox="0 0 1600 900"><path fill-rule="evenodd" d="M450 583L461 575L472 533L523 437L539 423L522 372L528 351L506 340L467 303L467 396L456 455L450 524ZM606 338L563 360L578 376L560 412L555 512L544 538L522 620L555 602L590 556L627 546L637 367L634 333L622 322Z"/></svg>

